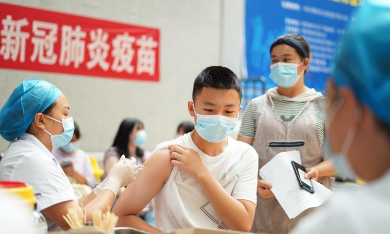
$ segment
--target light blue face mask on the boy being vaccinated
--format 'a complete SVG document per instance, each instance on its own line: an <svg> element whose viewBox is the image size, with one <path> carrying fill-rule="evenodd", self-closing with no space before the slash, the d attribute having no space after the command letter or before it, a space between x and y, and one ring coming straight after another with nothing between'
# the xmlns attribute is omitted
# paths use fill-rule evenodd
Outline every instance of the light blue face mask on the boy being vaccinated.
<svg viewBox="0 0 390 234"><path fill-rule="evenodd" d="M195 112L195 107L194 107ZM212 143L219 143L234 130L238 117L226 117L218 115L196 114L195 130L204 140ZM239 114L238 114L239 116Z"/></svg>

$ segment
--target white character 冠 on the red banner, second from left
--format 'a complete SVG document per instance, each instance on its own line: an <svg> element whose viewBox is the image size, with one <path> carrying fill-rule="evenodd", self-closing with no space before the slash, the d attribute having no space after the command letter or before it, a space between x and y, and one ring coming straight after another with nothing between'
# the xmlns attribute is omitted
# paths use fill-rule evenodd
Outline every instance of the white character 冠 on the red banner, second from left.
<svg viewBox="0 0 390 234"><path fill-rule="evenodd" d="M53 65L57 62L57 54L54 53L54 43L57 42L57 23L49 23L34 20L31 42L34 44L34 52L30 60L34 62L38 57L41 64Z"/></svg>

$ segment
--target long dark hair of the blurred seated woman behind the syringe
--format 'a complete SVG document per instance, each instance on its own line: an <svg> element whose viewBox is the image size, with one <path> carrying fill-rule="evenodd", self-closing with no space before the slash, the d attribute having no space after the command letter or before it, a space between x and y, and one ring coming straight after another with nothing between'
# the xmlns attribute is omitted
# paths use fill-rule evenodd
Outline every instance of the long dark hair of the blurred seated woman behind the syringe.
<svg viewBox="0 0 390 234"><path fill-rule="evenodd" d="M129 144L129 135L133 132L136 123L139 123L143 129L143 123L136 118L125 118L120 123L117 136L115 137L112 145L113 147L118 148L119 156L125 155L127 158L129 157L129 150L127 149L127 145ZM144 150L137 146L136 156L142 157L143 153Z"/></svg>

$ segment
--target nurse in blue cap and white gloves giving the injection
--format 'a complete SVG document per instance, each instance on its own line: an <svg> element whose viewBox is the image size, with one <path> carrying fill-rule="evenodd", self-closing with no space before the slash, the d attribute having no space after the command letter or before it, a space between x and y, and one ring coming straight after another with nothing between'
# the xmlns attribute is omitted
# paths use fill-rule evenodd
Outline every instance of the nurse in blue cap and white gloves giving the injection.
<svg viewBox="0 0 390 234"><path fill-rule="evenodd" d="M73 136L66 96L41 79L20 83L0 110L0 135L11 141L0 161L0 180L22 181L33 186L37 209L46 216L49 231L67 230L62 217L68 208L91 212L112 206L120 187L130 184L137 166L134 158L121 158L94 192L76 200L73 188L52 155L54 147L66 145Z"/></svg>

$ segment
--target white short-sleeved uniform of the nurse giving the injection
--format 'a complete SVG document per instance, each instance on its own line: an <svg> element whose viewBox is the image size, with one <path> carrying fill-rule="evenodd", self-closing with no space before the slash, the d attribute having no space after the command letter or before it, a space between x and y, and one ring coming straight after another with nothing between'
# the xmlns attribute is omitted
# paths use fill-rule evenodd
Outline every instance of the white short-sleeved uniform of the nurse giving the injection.
<svg viewBox="0 0 390 234"><path fill-rule="evenodd" d="M76 200L74 190L52 153L31 134L11 141L0 161L0 180L21 181L34 188L37 210ZM76 200L77 201L77 200ZM60 230L46 217L48 231Z"/></svg>

